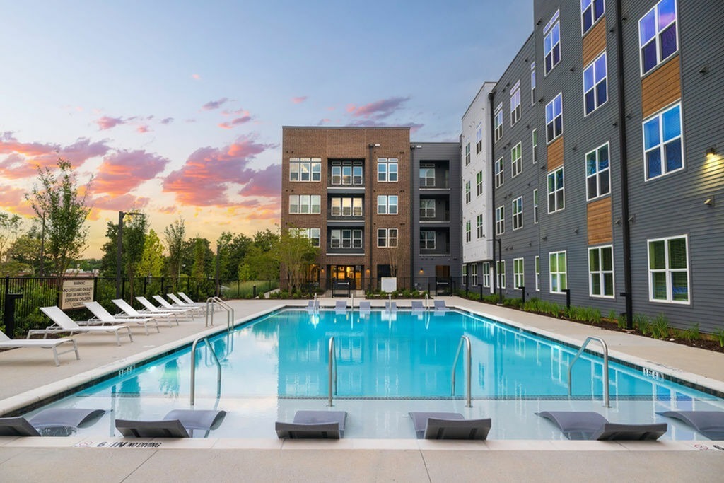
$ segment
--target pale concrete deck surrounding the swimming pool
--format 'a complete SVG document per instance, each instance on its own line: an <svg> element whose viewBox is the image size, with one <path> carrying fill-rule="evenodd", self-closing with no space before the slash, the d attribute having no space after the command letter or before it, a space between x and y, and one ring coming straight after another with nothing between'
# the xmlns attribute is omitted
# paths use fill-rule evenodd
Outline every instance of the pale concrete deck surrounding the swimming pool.
<svg viewBox="0 0 724 483"><path fill-rule="evenodd" d="M555 335L581 344L589 335L603 337L612 356L652 370L699 382L724 392L724 354L689 348L597 327L575 324L508 308L444 298L448 306ZM355 305L356 305L355 301ZM232 301L236 319L306 301ZM323 306L333 306L324 299ZM382 306L384 301L373 301ZM409 301L397 301L409 306ZM179 341L225 325L217 312L215 326L203 318L181 322L146 336L135 328L134 343L115 345L113 335L78 335L80 361L60 356L54 366L46 349L15 349L0 353L0 413L24 408L53 392L75 387L109 371L118 371L151 354L170 350ZM106 438L102 448L80 447L83 438L0 437L0 480L25 481L720 481L724 471L724 443L709 441L575 442L505 440L434 442L418 440L281 441L165 440L156 448L109 446L130 440ZM148 440L140 440L146 442ZM158 440L156 440L158 441ZM717 448L718 447L718 448Z"/></svg>

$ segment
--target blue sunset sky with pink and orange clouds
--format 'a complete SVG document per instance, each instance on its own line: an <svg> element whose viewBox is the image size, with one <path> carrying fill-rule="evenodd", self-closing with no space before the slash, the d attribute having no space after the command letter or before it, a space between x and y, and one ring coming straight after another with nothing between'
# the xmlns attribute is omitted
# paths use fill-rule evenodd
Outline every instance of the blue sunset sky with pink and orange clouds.
<svg viewBox="0 0 724 483"><path fill-rule="evenodd" d="M106 223L188 236L276 230L282 126L410 126L457 140L484 81L533 30L533 0L0 0L0 210L37 167L90 182Z"/></svg>

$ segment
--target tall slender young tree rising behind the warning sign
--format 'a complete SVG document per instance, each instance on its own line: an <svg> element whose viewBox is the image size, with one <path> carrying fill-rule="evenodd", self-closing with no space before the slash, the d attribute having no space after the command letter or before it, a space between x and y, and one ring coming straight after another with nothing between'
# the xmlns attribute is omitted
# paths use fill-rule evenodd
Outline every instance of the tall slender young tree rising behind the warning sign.
<svg viewBox="0 0 724 483"><path fill-rule="evenodd" d="M46 253L51 267L56 275L63 277L88 240L85 219L90 208L85 201L92 178L85 189L80 190L70 161L59 157L57 172L38 167L38 182L25 198L45 227Z"/></svg>

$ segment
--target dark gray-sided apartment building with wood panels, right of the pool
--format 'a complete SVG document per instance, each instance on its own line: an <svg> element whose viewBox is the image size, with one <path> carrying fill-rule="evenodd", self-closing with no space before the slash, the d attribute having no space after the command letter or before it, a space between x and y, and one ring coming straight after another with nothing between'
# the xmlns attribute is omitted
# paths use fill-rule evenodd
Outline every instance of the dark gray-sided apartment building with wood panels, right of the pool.
<svg viewBox="0 0 724 483"><path fill-rule="evenodd" d="M491 288L721 329L724 4L536 0L534 18L491 96Z"/></svg>

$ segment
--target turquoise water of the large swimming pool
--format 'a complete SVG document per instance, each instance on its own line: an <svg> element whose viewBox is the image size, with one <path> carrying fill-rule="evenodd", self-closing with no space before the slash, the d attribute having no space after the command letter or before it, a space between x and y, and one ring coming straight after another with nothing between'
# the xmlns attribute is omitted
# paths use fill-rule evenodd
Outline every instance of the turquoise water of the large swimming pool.
<svg viewBox="0 0 724 483"><path fill-rule="evenodd" d="M463 400L463 358L458 361L455 397L450 396L453 358L462 335L472 346L473 408L466 408ZM285 310L211 340L223 368L219 398L211 355L203 346L197 350L195 407L229 411L212 435L274 437L274 421L291 420L298 409L326 408L330 337L337 361L334 406L350 413L346 437L413 437L408 411L493 416L491 438L557 439L560 433L534 416L536 411L605 411L615 421L649 422L663 420L657 411L724 407L720 399L660 374L611 362L612 408L602 408L601 360L588 355L574 366L569 398L568 364L576 348L458 311ZM52 406L109 409L106 424L82 429L79 435L95 431L115 436L113 418L159 419L172 408L188 408L190 365L185 348L128 368ZM694 439L696 434L672 427L666 437Z"/></svg>

